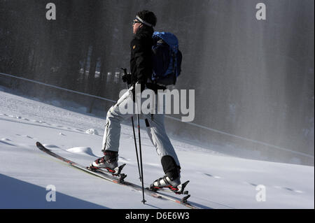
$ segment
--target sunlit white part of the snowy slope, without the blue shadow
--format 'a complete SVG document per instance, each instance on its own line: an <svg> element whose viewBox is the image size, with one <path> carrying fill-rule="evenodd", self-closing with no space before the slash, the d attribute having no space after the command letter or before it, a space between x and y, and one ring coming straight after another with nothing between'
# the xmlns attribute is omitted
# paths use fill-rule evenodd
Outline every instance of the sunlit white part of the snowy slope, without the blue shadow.
<svg viewBox="0 0 315 223"><path fill-rule="evenodd" d="M74 113L64 108L57 108L1 91L0 94L2 96L0 99L0 103L2 102L0 149L3 149L4 152L1 160L5 160L6 156L8 159L15 157L19 154L16 151L22 153L21 159L26 159L23 157L24 155L29 158L25 153L28 150L37 154L33 158L34 160L31 160L35 161L35 164L26 161L30 166L22 167L18 163L13 169L0 168L0 174L26 180L41 187L54 179L65 194L95 203L103 208L183 208L159 199L148 199L150 206L144 206L138 202L141 199L140 194L131 192L132 189L106 184L106 182L84 175L80 171L75 173L71 168L64 168L59 161L45 157L45 154L35 149L35 142L41 141L46 148L57 154L88 165L96 157L102 155L99 146L102 143L104 119ZM10 128L11 125L17 129ZM141 145L144 150L144 179L145 185L148 186L163 173L158 156L155 154L155 148L148 136L143 135L142 137L141 133L143 142ZM134 139L129 126L122 125L120 138L122 149L119 161L127 164L124 168L128 175L127 180L140 184L137 159L134 154ZM211 150L205 151L204 148L198 148L195 145L171 140L172 143L174 142L174 148L181 161L182 181L190 180L188 189L192 196L189 201L196 206L199 205L201 208L314 208L314 167L227 157ZM12 150L12 154L10 150ZM45 159L42 159L43 157ZM41 172L41 168L36 168L38 159L41 165L42 162L50 164L43 169L52 171L52 178L48 176L43 178L45 172ZM99 187L95 192L89 193L83 193L82 189L71 190L68 185L62 184L64 176L54 171L53 166L68 173L69 178L78 176L82 180L78 182L79 188L83 188L83 185L87 185L90 180ZM35 168L38 175L28 173L29 177L25 177L19 173L20 168L26 168L25 171L27 168L34 171ZM294 177L300 179L294 179ZM105 192L104 187L100 186L103 184L108 187ZM267 188L269 203L255 201L258 185L265 185ZM106 201L98 199L98 193L103 196L106 194L108 199ZM119 195L119 193L123 195ZM123 203L125 199L122 198L123 200L120 201L117 196L128 196L132 199ZM76 207L75 203L72 204Z"/></svg>

